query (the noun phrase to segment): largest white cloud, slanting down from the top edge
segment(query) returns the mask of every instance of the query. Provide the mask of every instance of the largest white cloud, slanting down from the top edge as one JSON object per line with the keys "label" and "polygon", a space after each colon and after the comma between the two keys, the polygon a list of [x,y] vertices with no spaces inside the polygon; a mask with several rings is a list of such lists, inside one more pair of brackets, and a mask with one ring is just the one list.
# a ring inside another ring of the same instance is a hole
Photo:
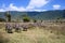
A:
{"label": "largest white cloud, slanting down from the top edge", "polygon": [[49,3],[50,0],[30,0],[27,9],[41,8]]}

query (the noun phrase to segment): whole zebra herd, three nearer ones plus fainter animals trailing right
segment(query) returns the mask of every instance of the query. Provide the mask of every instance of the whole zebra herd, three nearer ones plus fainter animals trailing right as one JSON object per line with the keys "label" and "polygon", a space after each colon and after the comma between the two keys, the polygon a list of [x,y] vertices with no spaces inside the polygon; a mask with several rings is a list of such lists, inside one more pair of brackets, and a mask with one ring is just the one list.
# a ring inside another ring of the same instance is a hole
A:
{"label": "whole zebra herd, three nearer ones plus fainter animals trailing right", "polygon": [[31,27],[43,27],[44,25],[42,23],[30,23],[30,24],[5,24],[5,31],[8,33],[13,33],[13,29],[16,31],[16,32],[21,32],[22,30],[23,31],[27,31],[29,28]]}

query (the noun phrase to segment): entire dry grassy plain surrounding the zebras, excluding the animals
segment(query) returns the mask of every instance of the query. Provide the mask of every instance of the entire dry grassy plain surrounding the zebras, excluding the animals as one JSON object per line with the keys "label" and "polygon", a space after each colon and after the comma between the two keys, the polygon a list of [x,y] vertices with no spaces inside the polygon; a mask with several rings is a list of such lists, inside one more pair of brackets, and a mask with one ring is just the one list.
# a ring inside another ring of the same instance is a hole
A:
{"label": "entire dry grassy plain surrounding the zebras, excluding the animals", "polygon": [[42,23],[36,27],[27,24],[30,26],[27,31],[13,29],[13,33],[8,33],[4,25],[0,23],[0,43],[65,43],[65,24]]}

